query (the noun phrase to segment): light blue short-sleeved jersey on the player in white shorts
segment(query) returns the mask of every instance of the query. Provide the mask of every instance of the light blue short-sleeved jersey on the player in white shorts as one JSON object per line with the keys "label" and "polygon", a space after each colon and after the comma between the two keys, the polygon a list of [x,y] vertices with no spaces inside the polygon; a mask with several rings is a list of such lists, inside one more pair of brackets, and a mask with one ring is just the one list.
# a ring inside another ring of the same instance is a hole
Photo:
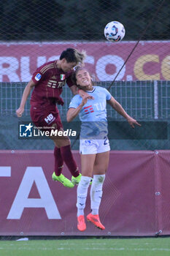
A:
{"label": "light blue short-sleeved jersey on the player in white shorts", "polygon": [[[79,117],[82,121],[80,137],[93,139],[98,136],[107,135],[107,100],[112,95],[107,89],[100,86],[93,86],[93,91],[87,91],[94,99],[88,102],[80,110]],[[75,95],[70,102],[69,108],[77,108],[82,102],[80,95]]]}

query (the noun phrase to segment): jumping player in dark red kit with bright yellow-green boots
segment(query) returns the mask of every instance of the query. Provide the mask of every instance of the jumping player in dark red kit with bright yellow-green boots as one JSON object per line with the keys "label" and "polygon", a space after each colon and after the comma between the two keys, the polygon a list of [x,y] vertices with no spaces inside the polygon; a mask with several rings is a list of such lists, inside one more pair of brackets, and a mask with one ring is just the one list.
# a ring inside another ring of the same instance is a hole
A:
{"label": "jumping player in dark red kit with bright yellow-green boots", "polygon": [[[22,116],[28,95],[34,88],[31,94],[30,113],[36,127],[49,127],[50,130],[53,127],[53,129],[63,130],[60,114],[56,107],[56,104],[63,105],[63,99],[60,97],[63,86],[67,84],[73,94],[80,94],[82,98],[91,98],[85,91],[78,91],[71,79],[73,68],[77,64],[83,63],[84,59],[83,51],[67,48],[61,53],[59,60],[47,62],[37,68],[23,91],[20,108],[16,110],[17,116]],[[52,178],[54,181],[60,181],[65,187],[74,187],[74,184],[80,182],[81,174],[72,156],[70,140],[66,136],[58,137],[58,135],[50,138],[55,143],[55,168]],[[72,181],[62,174],[63,162],[72,173]]]}

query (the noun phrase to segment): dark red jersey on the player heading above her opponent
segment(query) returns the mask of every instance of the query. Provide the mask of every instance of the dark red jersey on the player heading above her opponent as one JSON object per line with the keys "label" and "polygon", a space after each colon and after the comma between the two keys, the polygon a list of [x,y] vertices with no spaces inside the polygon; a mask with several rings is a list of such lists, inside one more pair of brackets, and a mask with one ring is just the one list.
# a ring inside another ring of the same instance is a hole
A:
{"label": "dark red jersey on the player heading above her opponent", "polygon": [[73,71],[63,72],[57,67],[57,61],[49,61],[36,69],[32,80],[36,84],[31,94],[31,105],[63,105],[60,95],[63,86],[73,86],[71,79]]}

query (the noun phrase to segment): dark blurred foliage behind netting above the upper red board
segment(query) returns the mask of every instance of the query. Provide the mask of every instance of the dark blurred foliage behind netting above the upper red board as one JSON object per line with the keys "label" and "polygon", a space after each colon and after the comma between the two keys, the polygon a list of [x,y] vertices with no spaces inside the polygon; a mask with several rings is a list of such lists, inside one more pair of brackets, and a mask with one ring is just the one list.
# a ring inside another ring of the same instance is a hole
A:
{"label": "dark blurred foliage behind netting above the upper red board", "polygon": [[169,39],[169,0],[1,0],[0,40],[102,40],[108,20],[121,20],[126,40]]}

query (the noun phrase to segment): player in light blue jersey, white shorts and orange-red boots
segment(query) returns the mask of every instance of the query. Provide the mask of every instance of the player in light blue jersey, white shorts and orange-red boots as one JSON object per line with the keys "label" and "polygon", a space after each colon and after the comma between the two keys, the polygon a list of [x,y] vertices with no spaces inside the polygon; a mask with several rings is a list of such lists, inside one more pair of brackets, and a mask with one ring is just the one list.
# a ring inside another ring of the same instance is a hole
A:
{"label": "player in light blue jersey, white shorts and orange-red boots", "polygon": [[80,132],[80,154],[82,177],[77,187],[77,228],[86,229],[84,209],[91,177],[93,183],[90,189],[91,213],[87,219],[96,227],[104,230],[101,224],[98,209],[101,203],[102,187],[105,173],[109,165],[109,140],[107,139],[107,102],[117,113],[127,119],[131,127],[141,126],[134,118],[128,116],[123,107],[114,97],[100,86],[93,86],[90,74],[84,67],[77,67],[74,73],[74,82],[88,92],[94,99],[82,99],[75,95],[70,102],[67,112],[67,121],[72,121],[79,115],[82,121]]}

